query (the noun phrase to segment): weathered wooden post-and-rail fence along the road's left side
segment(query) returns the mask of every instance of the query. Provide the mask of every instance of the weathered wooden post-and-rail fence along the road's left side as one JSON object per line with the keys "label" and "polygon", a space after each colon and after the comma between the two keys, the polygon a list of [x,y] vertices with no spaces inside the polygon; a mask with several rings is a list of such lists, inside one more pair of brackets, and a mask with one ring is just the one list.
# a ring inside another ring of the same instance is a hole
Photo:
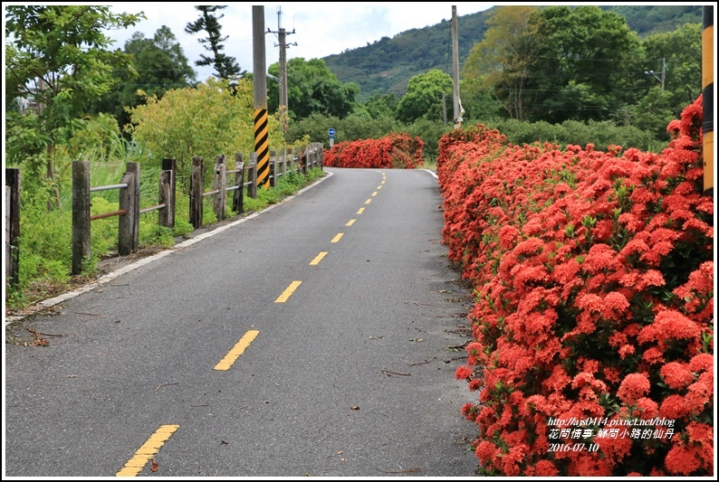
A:
{"label": "weathered wooden post-and-rail fence along the road's left side", "polygon": [[[308,169],[322,167],[321,142],[309,146],[282,149],[277,156],[270,152],[270,185],[275,187],[282,175],[294,171],[307,174]],[[244,192],[251,198],[257,197],[257,156],[250,154],[245,165],[243,155],[235,154],[235,168],[227,169],[225,156],[216,156],[213,190],[203,192],[203,159],[194,157],[190,173],[189,222],[197,229],[202,226],[203,201],[213,196],[213,209],[217,220],[226,217],[227,192],[233,193],[233,211],[244,213]],[[232,185],[227,185],[227,175],[235,174]],[[158,212],[158,224],[175,226],[175,198],[177,167],[175,159],[163,159],[159,173],[158,203],[139,208],[139,164],[127,163],[126,172],[119,184],[91,187],[90,163],[72,163],[72,274],[80,274],[83,265],[91,258],[91,221],[118,217],[118,254],[127,255],[139,248],[139,215]],[[246,179],[246,180],[245,180]],[[91,193],[119,190],[119,209],[109,213],[90,214]],[[5,168],[5,279],[11,286],[18,280],[18,238],[20,236],[20,170]]]}

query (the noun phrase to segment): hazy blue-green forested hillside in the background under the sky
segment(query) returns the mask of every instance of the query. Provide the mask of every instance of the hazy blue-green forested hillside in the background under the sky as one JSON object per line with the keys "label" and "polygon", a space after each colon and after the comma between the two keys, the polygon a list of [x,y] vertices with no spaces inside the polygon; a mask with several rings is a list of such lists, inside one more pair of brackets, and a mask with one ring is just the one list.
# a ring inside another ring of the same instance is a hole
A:
{"label": "hazy blue-green forested hillside in the background under the sky", "polygon": [[[457,16],[460,68],[475,43],[484,36],[484,23],[494,8],[484,12]],[[617,5],[602,6],[623,15],[630,29],[644,37],[650,33],[668,32],[681,24],[701,24],[701,5]],[[407,30],[393,38],[382,37],[365,47],[324,57],[327,67],[342,82],[357,82],[361,87],[359,101],[373,95],[407,90],[407,82],[419,73],[439,69],[452,73],[451,10],[435,25]]]}

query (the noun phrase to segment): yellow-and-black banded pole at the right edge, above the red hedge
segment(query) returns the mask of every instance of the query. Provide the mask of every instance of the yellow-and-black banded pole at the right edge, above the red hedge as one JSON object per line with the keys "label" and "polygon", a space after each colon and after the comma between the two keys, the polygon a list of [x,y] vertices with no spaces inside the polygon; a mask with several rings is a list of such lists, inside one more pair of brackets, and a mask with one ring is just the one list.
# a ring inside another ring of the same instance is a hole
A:
{"label": "yellow-and-black banded pole at the right edge, above the red hedge", "polygon": [[714,5],[702,7],[704,194],[714,196]]}

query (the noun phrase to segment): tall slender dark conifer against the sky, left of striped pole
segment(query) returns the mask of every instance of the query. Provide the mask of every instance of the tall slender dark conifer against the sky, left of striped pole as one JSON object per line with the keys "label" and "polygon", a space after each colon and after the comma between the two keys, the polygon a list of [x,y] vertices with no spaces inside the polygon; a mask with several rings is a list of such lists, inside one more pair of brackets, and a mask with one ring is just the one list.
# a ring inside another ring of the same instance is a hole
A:
{"label": "tall slender dark conifer against the sky, left of striped pole", "polygon": [[216,12],[225,8],[227,8],[227,5],[195,5],[195,9],[200,12],[200,17],[195,22],[188,22],[185,26],[185,32],[187,33],[207,33],[206,38],[199,39],[199,43],[205,45],[205,49],[212,52],[212,56],[207,56],[204,53],[200,54],[200,60],[195,61],[195,65],[198,67],[212,65],[217,72],[217,77],[220,79],[230,79],[246,73],[241,71],[235,57],[230,57],[222,52],[225,50],[225,45],[222,43],[227,40],[228,36],[223,37],[220,33],[222,27],[219,20],[225,14],[216,15]]}

